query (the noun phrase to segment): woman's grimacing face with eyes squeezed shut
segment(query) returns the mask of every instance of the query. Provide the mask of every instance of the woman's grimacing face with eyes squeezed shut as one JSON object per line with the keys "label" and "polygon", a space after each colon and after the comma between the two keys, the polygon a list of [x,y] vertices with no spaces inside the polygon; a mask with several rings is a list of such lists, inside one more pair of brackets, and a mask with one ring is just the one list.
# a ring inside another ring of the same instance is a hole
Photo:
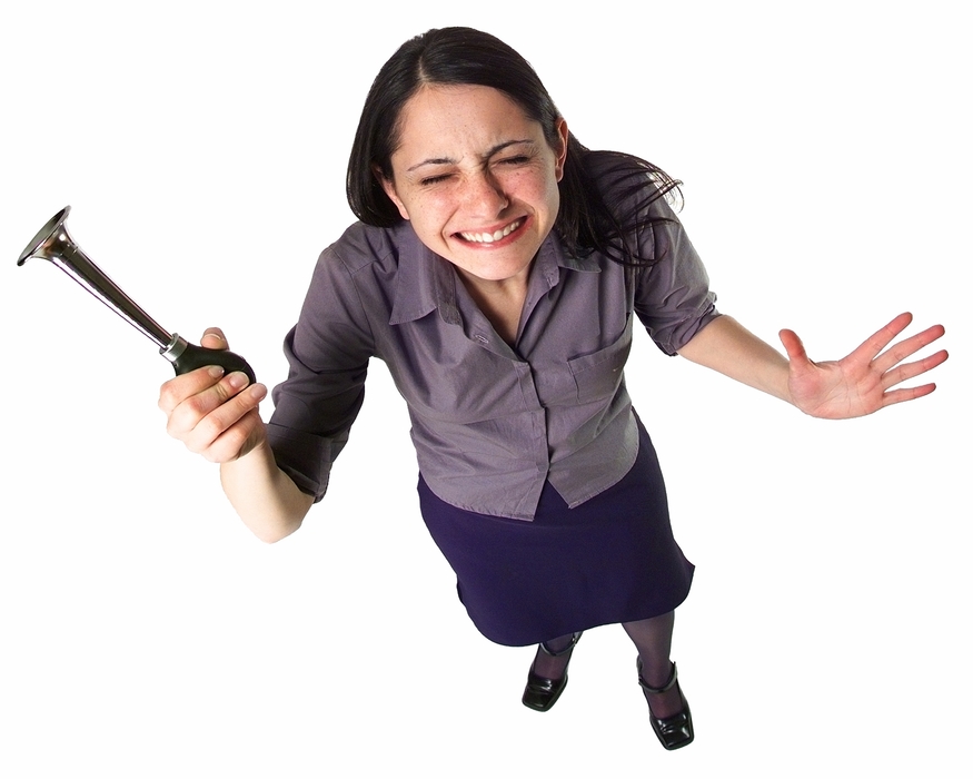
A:
{"label": "woman's grimacing face with eyes squeezed shut", "polygon": [[477,279],[526,277],[554,227],[567,126],[539,122],[490,87],[427,85],[403,108],[385,191],[419,239]]}

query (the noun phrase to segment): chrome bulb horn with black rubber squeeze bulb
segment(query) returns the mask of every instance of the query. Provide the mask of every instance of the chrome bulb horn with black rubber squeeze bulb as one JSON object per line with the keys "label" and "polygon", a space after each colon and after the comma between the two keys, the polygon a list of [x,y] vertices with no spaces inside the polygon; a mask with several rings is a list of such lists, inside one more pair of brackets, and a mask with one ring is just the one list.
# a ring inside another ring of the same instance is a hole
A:
{"label": "chrome bulb horn with black rubber squeeze bulb", "polygon": [[153,341],[159,347],[159,354],[172,363],[177,375],[207,365],[219,365],[227,373],[242,371],[251,384],[257,381],[254,369],[238,354],[196,346],[177,333],[170,335],[162,329],[75,243],[64,226],[70,213],[71,207],[66,206],[51,217],[20,254],[17,264],[23,265],[31,257],[53,263],[122,319]]}

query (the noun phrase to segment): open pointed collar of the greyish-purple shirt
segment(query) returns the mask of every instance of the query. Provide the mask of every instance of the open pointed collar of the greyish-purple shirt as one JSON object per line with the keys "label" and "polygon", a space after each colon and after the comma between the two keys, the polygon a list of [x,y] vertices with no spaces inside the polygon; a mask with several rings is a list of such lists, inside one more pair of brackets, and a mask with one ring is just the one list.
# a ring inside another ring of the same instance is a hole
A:
{"label": "open pointed collar of the greyish-purple shirt", "polygon": [[[461,323],[456,304],[456,273],[449,263],[423,244],[411,225],[404,221],[389,229],[398,248],[398,278],[395,287],[390,325],[420,319],[435,309],[448,324]],[[553,233],[537,253],[535,274],[553,288],[560,278],[560,268],[580,273],[600,273],[594,255],[570,257]]]}

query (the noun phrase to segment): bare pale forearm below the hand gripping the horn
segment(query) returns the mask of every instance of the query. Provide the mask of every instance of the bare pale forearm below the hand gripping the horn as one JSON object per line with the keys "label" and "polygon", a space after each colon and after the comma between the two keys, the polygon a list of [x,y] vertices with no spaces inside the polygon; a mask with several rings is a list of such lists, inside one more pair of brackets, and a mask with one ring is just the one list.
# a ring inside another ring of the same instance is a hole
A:
{"label": "bare pale forearm below the hand gripping the horn", "polygon": [[224,492],[261,541],[274,543],[300,527],[314,497],[297,489],[274,460],[266,441],[247,455],[220,465]]}

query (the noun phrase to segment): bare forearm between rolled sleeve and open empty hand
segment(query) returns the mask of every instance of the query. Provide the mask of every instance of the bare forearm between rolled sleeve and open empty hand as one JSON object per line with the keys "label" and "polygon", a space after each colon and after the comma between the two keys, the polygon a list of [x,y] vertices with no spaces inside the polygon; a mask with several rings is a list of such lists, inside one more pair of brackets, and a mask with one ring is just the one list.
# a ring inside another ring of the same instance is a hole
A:
{"label": "bare forearm between rolled sleeve and open empty hand", "polygon": [[733,317],[711,322],[679,349],[679,355],[792,403],[787,358]]}

